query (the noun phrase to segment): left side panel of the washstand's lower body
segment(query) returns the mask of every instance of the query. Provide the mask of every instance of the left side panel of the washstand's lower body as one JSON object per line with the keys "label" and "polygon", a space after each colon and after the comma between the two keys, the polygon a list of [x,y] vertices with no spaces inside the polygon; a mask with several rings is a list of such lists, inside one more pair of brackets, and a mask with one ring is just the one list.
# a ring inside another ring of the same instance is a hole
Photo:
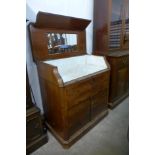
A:
{"label": "left side panel of the washstand's lower body", "polygon": [[57,87],[43,78],[40,78],[40,83],[42,85],[46,121],[56,133],[64,138],[65,109],[62,105],[65,104],[65,101],[61,102],[63,88]]}

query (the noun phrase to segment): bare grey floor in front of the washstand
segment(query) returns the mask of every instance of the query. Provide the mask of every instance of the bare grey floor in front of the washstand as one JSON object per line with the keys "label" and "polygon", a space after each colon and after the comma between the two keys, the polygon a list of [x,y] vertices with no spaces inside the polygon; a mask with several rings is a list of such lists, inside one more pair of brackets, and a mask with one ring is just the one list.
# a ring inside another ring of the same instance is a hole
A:
{"label": "bare grey floor in front of the washstand", "polygon": [[63,149],[48,132],[49,141],[31,155],[128,155],[129,99],[126,98],[77,141]]}

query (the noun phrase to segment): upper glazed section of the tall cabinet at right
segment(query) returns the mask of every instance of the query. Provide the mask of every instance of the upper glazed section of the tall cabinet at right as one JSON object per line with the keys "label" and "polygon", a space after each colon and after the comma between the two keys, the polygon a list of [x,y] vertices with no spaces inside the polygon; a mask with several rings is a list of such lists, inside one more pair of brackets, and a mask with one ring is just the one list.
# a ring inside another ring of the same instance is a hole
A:
{"label": "upper glazed section of the tall cabinet at right", "polygon": [[129,1],[94,0],[93,50],[96,54],[129,48]]}

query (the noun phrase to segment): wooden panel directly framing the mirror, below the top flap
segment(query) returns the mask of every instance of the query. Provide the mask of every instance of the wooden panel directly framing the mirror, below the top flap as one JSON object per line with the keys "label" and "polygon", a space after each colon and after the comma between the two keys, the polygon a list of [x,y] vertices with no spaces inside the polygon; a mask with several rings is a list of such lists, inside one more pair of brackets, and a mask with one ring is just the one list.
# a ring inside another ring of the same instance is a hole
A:
{"label": "wooden panel directly framing the mirror, below the top flap", "polygon": [[[29,25],[30,29],[30,40],[31,40],[31,48],[34,60],[43,61],[47,59],[58,59],[64,57],[71,57],[86,54],[86,35],[85,30],[55,30],[55,29],[40,29],[35,27],[34,24]],[[56,54],[49,54],[48,53],[48,40],[46,37],[46,33],[48,32],[66,32],[66,33],[75,33],[78,35],[77,38],[77,51],[66,52],[66,53],[56,53]]]}

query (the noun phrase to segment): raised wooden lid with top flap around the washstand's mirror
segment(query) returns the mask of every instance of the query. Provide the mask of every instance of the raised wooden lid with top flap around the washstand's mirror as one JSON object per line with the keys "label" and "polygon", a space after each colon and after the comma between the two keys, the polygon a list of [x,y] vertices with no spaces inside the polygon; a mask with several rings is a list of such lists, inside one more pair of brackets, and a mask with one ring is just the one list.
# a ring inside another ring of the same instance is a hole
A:
{"label": "raised wooden lid with top flap around the washstand's mirror", "polygon": [[[90,20],[39,12],[35,23],[30,23],[30,41],[34,61],[58,59],[86,54],[86,30]],[[48,32],[77,34],[77,51],[48,53]]]}

